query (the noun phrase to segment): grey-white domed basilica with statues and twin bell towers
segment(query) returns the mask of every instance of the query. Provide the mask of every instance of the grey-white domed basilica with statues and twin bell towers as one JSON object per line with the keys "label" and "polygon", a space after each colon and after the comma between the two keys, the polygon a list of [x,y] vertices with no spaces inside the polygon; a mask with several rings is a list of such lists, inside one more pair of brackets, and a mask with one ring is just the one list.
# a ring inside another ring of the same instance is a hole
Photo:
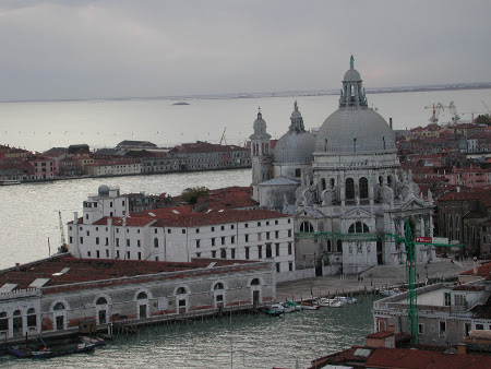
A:
{"label": "grey-white domed basilica with statues and twin bell towers", "polygon": [[[339,107],[319,131],[306,131],[297,102],[274,148],[261,111],[253,129],[253,197],[261,207],[294,215],[298,267],[350,274],[402,264],[408,225],[414,236],[432,237],[431,192],[400,168],[395,133],[369,108],[352,57]],[[433,258],[431,245],[416,245],[417,262]]]}

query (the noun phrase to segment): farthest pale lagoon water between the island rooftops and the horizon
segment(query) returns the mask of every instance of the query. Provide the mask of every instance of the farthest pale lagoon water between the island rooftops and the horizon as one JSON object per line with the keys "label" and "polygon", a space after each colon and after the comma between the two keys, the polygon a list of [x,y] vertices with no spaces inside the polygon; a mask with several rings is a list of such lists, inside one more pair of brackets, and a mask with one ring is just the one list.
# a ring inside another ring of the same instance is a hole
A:
{"label": "farthest pale lagoon water between the island rooftops and the horizon", "polygon": [[[367,82],[369,83],[369,82]],[[340,83],[339,83],[340,88]],[[224,129],[228,143],[243,144],[261,106],[268,132],[279,138],[288,130],[294,102],[298,99],[307,128],[320,127],[336,110],[337,95],[229,99],[189,99],[176,106],[169,99],[84,100],[0,104],[0,144],[44,151],[52,146],[86,143],[91,147],[115,146],[122,140],[145,140],[175,145],[195,140],[218,142]],[[368,95],[395,129],[427,124],[433,103],[454,102],[463,119],[488,112],[491,90],[441,91]],[[447,110],[441,122],[450,121]]]}

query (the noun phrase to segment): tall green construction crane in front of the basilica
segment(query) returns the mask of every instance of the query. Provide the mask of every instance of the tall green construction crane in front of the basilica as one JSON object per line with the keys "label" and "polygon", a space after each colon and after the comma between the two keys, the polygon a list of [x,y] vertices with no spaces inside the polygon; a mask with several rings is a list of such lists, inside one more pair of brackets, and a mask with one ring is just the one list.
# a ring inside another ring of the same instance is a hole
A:
{"label": "tall green construction crane in front of the basilica", "polygon": [[396,243],[406,245],[406,288],[407,288],[407,324],[408,332],[412,335],[412,343],[419,342],[418,335],[418,279],[416,273],[416,245],[430,245],[430,246],[447,246],[447,247],[462,247],[463,245],[443,245],[431,242],[415,241],[412,236],[409,221],[405,223],[405,236],[392,235],[392,234],[344,234],[334,231],[312,231],[312,233],[297,233],[296,238],[314,238],[314,239],[331,239],[331,240],[345,240],[345,241],[392,241]]}

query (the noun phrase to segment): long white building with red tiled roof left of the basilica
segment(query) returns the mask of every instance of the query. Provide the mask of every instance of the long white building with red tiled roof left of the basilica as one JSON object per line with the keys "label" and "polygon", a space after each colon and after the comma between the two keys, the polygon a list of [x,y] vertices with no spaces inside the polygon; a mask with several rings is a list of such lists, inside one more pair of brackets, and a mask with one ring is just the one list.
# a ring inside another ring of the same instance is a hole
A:
{"label": "long white building with red tiled roof left of the basilica", "polygon": [[85,259],[189,262],[194,258],[270,260],[278,281],[292,278],[292,216],[271,210],[189,206],[129,213],[119,189],[100,186],[68,225],[69,251]]}

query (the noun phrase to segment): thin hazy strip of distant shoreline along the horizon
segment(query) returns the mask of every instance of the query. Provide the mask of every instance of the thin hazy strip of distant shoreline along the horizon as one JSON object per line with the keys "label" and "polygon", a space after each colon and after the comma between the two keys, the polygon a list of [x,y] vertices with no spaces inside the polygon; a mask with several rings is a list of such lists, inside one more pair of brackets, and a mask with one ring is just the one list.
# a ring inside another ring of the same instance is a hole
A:
{"label": "thin hazy strip of distant shoreline along the horizon", "polygon": [[[490,90],[491,82],[428,85],[428,86],[402,86],[402,87],[380,87],[367,88],[367,95],[371,94],[398,94],[414,92],[435,92],[435,91],[462,91],[462,90]],[[130,102],[130,100],[171,100],[171,105],[189,105],[185,100],[195,99],[236,99],[236,98],[262,98],[262,97],[291,97],[291,96],[325,96],[338,95],[339,90],[325,91],[286,91],[265,93],[238,93],[238,94],[216,94],[216,95],[189,95],[189,96],[154,96],[154,97],[100,97],[100,98],[67,98],[67,99],[26,99],[26,100],[1,100],[0,104],[12,103],[76,103],[76,102]]]}

